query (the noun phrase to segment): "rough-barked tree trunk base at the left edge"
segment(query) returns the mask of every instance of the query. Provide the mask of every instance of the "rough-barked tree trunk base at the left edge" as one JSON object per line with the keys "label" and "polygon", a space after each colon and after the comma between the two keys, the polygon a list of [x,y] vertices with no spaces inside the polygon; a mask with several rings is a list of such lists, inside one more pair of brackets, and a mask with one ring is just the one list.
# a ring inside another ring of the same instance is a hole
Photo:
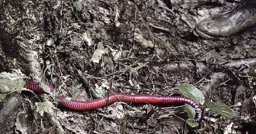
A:
{"label": "rough-barked tree trunk base at the left edge", "polygon": [[[21,68],[26,75],[40,76],[42,44],[58,35],[57,13],[60,9],[58,0],[0,0],[1,71]],[[15,118],[22,110],[21,106],[20,99],[10,97],[0,107],[1,133],[14,132]]]}

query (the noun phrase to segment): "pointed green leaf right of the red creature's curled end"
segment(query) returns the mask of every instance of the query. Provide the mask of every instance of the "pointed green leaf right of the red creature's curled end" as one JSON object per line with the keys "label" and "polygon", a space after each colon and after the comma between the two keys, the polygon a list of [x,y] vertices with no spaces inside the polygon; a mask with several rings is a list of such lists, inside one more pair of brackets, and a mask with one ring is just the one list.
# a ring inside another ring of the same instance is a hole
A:
{"label": "pointed green leaf right of the red creature's curled end", "polygon": [[211,108],[215,112],[218,112],[225,118],[231,119],[236,117],[236,114],[224,103],[222,102],[207,102],[207,108]]}

